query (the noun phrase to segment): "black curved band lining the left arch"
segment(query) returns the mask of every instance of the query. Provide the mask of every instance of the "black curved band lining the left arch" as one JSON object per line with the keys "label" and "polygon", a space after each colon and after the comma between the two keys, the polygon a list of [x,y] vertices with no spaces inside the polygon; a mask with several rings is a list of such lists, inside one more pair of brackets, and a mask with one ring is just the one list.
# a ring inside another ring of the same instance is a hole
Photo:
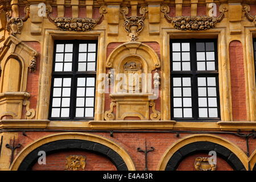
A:
{"label": "black curved band lining the left arch", "polygon": [[32,166],[38,161],[38,152],[45,151],[46,154],[53,154],[55,152],[63,151],[63,150],[81,150],[81,151],[89,151],[95,154],[100,154],[108,158],[118,171],[127,171],[128,168],[121,158],[120,155],[117,154],[111,148],[104,146],[103,144],[92,142],[88,140],[77,140],[77,139],[68,139],[68,140],[57,140],[54,142],[49,142],[43,144],[42,146],[35,148],[30,154],[24,158],[22,163],[20,164],[18,171],[28,171],[31,170]]}

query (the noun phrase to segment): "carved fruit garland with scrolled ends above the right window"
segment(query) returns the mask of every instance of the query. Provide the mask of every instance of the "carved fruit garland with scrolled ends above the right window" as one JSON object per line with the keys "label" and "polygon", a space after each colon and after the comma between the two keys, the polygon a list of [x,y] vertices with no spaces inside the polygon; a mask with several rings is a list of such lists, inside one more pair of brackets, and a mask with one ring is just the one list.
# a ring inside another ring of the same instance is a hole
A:
{"label": "carved fruit garland with scrolled ends above the right window", "polygon": [[224,18],[224,13],[227,11],[224,5],[221,5],[219,8],[220,15],[215,16],[176,16],[171,17],[168,13],[170,12],[170,7],[167,5],[161,6],[161,11],[164,13],[164,16],[171,22],[175,28],[178,30],[208,30],[214,28],[217,22],[221,22]]}

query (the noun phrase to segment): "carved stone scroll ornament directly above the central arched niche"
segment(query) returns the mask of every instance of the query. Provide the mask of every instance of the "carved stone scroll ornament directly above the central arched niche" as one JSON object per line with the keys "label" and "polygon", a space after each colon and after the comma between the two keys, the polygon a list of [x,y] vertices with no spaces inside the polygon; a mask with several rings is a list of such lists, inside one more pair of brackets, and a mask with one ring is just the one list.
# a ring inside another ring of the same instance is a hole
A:
{"label": "carved stone scroll ornament directly above the central arched niche", "polygon": [[147,7],[141,7],[141,9],[139,9],[139,13],[142,16],[127,17],[126,15],[128,14],[128,7],[126,6],[122,7],[121,13],[123,15],[123,18],[125,19],[125,23],[123,24],[123,27],[125,28],[125,31],[130,36],[130,41],[135,41],[138,39],[139,33],[144,28],[144,19],[147,11],[148,11]]}

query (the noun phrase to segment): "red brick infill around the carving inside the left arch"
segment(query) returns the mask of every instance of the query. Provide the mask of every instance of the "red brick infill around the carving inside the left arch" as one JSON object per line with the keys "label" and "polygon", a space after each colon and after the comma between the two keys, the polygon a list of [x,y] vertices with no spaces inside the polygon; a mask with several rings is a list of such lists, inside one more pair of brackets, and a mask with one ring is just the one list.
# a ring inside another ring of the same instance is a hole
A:
{"label": "red brick infill around the carving inside the left arch", "polygon": [[82,155],[86,157],[85,171],[117,171],[109,159],[104,156],[93,154],[91,152],[85,151],[64,151],[57,152],[55,154],[50,154],[46,156],[46,164],[39,165],[36,163],[32,170],[35,171],[63,171],[65,170],[65,164],[67,162],[66,158],[69,155]]}

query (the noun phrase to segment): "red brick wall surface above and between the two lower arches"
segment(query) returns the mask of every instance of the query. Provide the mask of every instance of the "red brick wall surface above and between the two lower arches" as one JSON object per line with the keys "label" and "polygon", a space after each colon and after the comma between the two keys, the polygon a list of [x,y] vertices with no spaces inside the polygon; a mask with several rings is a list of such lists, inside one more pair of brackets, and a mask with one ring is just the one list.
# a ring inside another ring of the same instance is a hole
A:
{"label": "red brick wall surface above and between the two lower arches", "polygon": [[[18,138],[16,138],[15,144],[22,144],[22,147],[17,148],[15,150],[15,154],[18,154],[24,147],[28,144],[34,142],[35,140],[46,137],[47,135],[53,134],[54,132],[32,132],[27,131],[27,137],[22,135],[22,132],[19,132]],[[56,132],[57,133],[57,132]],[[187,137],[191,134],[180,134],[180,137],[177,138],[175,133],[115,133],[114,137],[110,137],[109,133],[91,133],[95,135],[99,135],[101,137],[108,138],[113,142],[117,143],[119,146],[123,147],[127,153],[131,156],[131,159],[134,162],[135,168],[137,170],[144,170],[144,154],[142,152],[137,152],[137,148],[141,147],[142,150],[145,148],[145,139],[147,140],[147,148],[154,147],[155,150],[152,152],[148,152],[148,169],[156,170],[160,159],[164,155],[164,152],[184,137]],[[237,147],[241,148],[243,152],[246,154],[246,142],[244,138],[237,137],[235,135],[228,134],[218,134],[216,136],[225,138],[229,142],[233,143]],[[11,141],[10,141],[11,142]],[[256,150],[256,139],[249,139],[250,144],[250,155]],[[201,155],[201,154],[200,154]],[[192,158],[192,157],[191,157]],[[193,165],[195,158],[191,159]],[[217,160],[217,164],[221,159]],[[223,164],[224,165],[224,164]],[[221,169],[221,168],[219,168]],[[227,168],[229,169],[229,168]],[[193,168],[191,168],[193,170]]]}

